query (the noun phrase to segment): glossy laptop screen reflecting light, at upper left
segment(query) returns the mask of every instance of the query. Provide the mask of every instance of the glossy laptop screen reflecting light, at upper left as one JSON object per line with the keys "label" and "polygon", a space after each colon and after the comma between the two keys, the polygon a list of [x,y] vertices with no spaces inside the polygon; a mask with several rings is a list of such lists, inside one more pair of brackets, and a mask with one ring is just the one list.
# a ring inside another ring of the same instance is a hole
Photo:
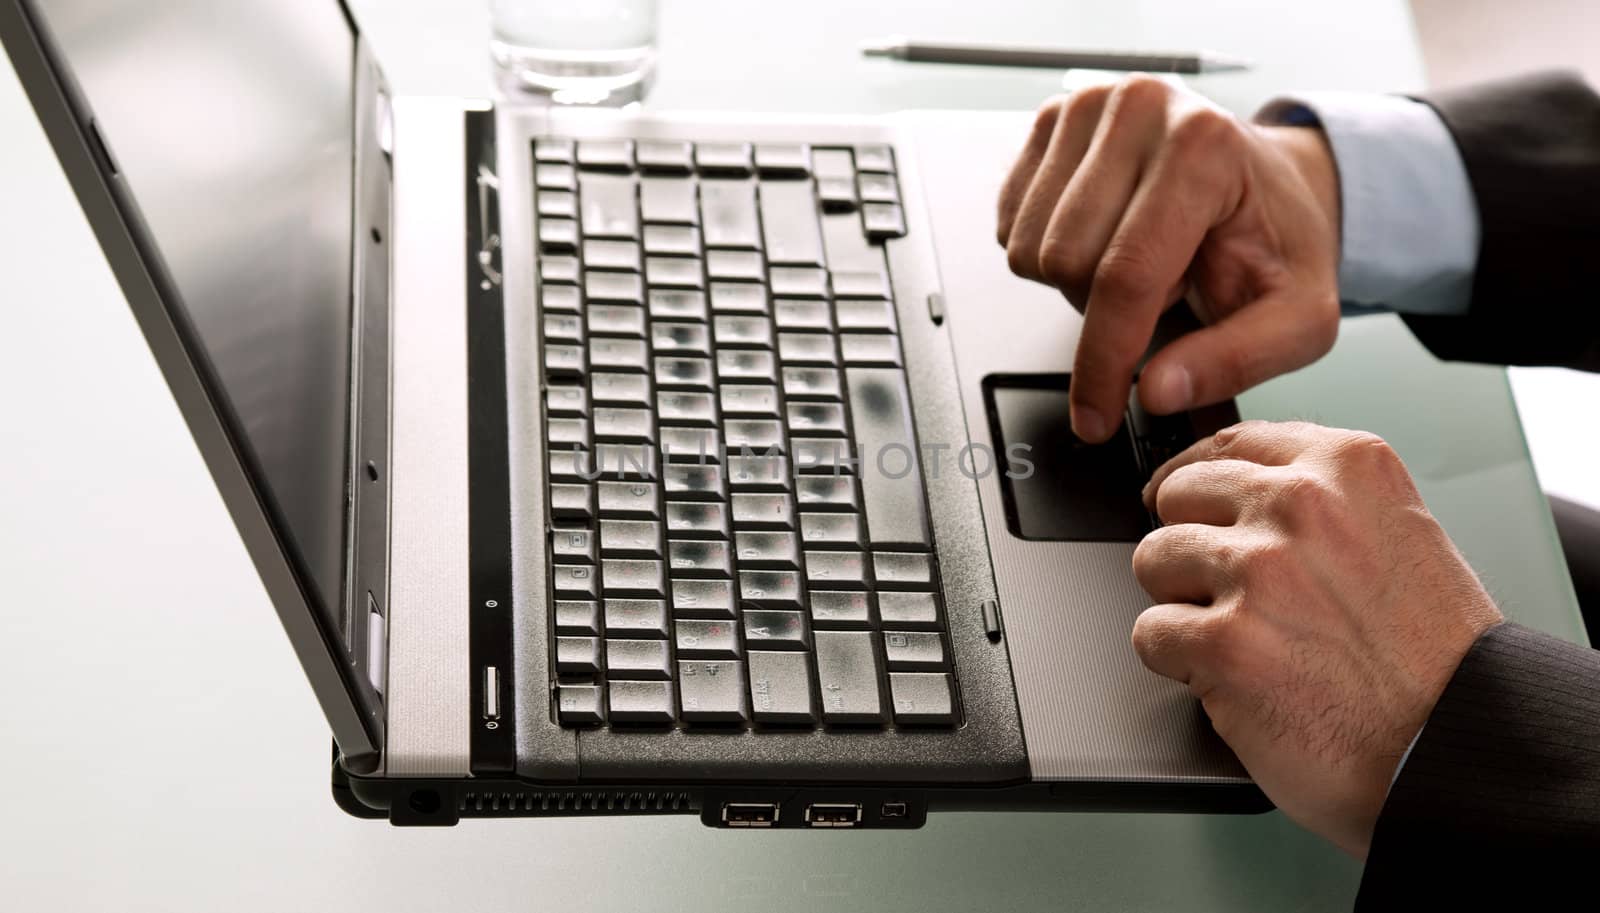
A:
{"label": "glossy laptop screen reflecting light, at upper left", "polygon": [[[333,0],[35,0],[280,536],[344,568],[355,42]],[[331,617],[330,630],[338,630]]]}

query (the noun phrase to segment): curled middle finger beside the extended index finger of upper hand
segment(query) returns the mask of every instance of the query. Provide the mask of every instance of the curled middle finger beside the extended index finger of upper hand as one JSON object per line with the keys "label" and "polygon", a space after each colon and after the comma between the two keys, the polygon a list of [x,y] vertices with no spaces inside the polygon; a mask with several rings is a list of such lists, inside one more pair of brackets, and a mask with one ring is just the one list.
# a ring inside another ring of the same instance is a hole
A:
{"label": "curled middle finger beside the extended index finger of upper hand", "polygon": [[1106,101],[1099,128],[1067,181],[1038,245],[1038,272],[1082,310],[1094,269],[1122,224],[1146,165],[1160,147],[1171,90],[1125,82]]}

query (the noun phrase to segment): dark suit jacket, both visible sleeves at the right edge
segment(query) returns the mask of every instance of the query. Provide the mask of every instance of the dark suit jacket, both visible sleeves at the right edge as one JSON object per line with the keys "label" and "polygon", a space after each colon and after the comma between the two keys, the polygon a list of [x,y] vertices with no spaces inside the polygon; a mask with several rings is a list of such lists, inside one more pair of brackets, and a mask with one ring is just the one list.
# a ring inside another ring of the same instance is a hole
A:
{"label": "dark suit jacket, both visible sleeves at the right edge", "polygon": [[[1411,331],[1440,358],[1600,371],[1600,96],[1541,74],[1421,101],[1461,150],[1482,248],[1467,313],[1406,317]],[[1402,764],[1357,907],[1557,897],[1600,908],[1600,652],[1506,624]]]}

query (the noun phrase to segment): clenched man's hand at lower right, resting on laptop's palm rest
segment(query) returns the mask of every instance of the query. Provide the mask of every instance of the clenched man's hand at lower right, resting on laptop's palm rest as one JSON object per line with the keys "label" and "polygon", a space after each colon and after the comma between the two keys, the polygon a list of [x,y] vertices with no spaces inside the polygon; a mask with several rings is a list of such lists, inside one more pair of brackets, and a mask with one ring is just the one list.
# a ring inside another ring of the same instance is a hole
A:
{"label": "clenched man's hand at lower right, resting on laptop's palm rest", "polygon": [[1411,739],[1502,620],[1382,440],[1224,429],[1157,470],[1133,628],[1290,819],[1357,857]]}

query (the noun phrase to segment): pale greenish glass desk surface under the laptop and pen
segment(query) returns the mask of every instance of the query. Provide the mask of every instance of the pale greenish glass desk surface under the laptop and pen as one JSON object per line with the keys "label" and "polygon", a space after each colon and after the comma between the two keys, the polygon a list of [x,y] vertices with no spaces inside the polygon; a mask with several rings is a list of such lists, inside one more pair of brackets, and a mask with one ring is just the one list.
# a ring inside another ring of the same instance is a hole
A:
{"label": "pale greenish glass desk surface under the laptop and pen", "polygon": [[[354,6],[402,91],[486,86],[475,6]],[[1059,85],[854,54],[858,38],[907,30],[1243,54],[1259,61],[1253,74],[1194,83],[1242,112],[1280,88],[1421,83],[1400,0],[1226,13],[1182,0],[666,6],[659,107],[1027,109]],[[6,67],[0,136],[0,782],[11,791],[0,891],[11,905],[1349,908],[1358,867],[1278,814],[949,814],[915,833],[710,831],[693,819],[395,830],[344,817],[328,799],[310,691]],[[1437,366],[1398,323],[1363,318],[1330,358],[1242,408],[1389,437],[1507,614],[1579,636],[1504,373]]]}

